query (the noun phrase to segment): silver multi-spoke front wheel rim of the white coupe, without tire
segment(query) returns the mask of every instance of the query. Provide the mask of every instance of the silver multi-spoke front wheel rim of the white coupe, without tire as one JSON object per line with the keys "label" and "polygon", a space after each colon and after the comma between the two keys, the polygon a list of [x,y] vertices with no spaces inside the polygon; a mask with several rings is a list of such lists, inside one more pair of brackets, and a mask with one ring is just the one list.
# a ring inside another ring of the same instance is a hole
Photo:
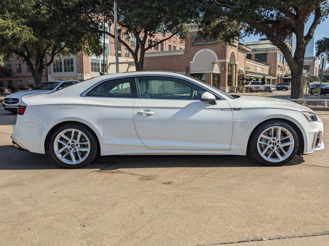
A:
{"label": "silver multi-spoke front wheel rim of the white coupe, without tire", "polygon": [[279,126],[265,129],[257,141],[259,154],[270,162],[287,159],[293,153],[294,147],[295,141],[291,132]]}

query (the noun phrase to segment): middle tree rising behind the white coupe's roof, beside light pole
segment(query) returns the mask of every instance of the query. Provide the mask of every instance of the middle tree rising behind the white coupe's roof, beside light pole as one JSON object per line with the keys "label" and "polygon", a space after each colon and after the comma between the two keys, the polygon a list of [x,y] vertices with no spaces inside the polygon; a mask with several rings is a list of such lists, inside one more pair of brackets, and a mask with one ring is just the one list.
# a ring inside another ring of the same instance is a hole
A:
{"label": "middle tree rising behind the white coupe's roof, beside light pole", "polygon": [[[184,39],[188,30],[184,23],[195,17],[191,1],[170,0],[119,0],[117,2],[118,42],[132,54],[137,71],[143,70],[145,51],[165,42],[174,35]],[[114,34],[104,31],[102,22],[114,22],[113,0],[82,0],[82,15],[94,25],[95,31],[114,38]],[[166,33],[169,33],[170,35]],[[131,39],[125,36],[134,35],[135,49],[130,46]],[[150,42],[149,39],[153,41]]]}

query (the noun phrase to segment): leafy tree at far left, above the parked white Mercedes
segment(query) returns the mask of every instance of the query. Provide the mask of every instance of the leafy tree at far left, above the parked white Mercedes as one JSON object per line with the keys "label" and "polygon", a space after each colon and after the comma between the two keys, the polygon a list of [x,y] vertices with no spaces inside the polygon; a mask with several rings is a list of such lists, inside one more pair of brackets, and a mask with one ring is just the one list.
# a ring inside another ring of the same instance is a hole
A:
{"label": "leafy tree at far left, above the parked white Mercedes", "polygon": [[101,53],[100,35],[81,22],[76,0],[4,0],[0,9],[0,55],[15,55],[36,84],[56,56]]}

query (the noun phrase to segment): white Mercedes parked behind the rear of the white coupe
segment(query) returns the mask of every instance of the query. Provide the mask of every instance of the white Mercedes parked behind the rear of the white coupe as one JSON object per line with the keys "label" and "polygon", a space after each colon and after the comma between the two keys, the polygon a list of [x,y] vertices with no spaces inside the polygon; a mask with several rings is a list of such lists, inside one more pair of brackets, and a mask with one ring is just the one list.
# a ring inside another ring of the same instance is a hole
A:
{"label": "white Mercedes parked behind the rear of the white coupe", "polygon": [[41,83],[31,90],[19,91],[5,97],[3,108],[11,113],[16,113],[22,102],[22,96],[45,94],[51,91],[60,90],[64,87],[78,83],[78,80],[55,80]]}

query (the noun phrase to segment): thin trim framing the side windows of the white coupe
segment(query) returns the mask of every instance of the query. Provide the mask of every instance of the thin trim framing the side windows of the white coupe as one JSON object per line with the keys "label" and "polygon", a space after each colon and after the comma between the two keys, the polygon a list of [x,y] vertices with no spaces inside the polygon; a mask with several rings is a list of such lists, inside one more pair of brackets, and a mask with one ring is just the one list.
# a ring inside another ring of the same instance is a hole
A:
{"label": "thin trim framing the side windows of the white coupe", "polygon": [[[177,79],[182,79],[182,80],[185,80],[189,83],[192,83],[193,85],[195,86],[198,86],[200,88],[203,88],[204,90],[210,92],[211,94],[215,94],[218,99],[216,100],[226,100],[225,98],[223,98],[222,96],[218,95],[218,93],[215,93],[211,90],[209,90],[208,88],[202,86],[202,85],[199,85],[197,83],[195,83],[194,81],[192,80],[189,80],[187,78],[182,78],[182,77],[179,77],[179,76],[173,76],[173,75],[165,75],[165,74],[141,74],[141,75],[128,75],[128,76],[121,76],[121,77],[115,77],[115,78],[107,78],[107,79],[103,79],[101,81],[98,81],[95,85],[89,87],[87,90],[85,90],[84,92],[82,92],[80,94],[81,97],[101,97],[101,98],[137,98],[137,99],[152,99],[152,100],[187,100],[187,99],[165,99],[165,98],[140,98],[138,97],[138,91],[137,91],[137,87],[136,87],[136,95],[137,97],[111,97],[111,96],[87,96],[86,94],[93,90],[96,86],[104,83],[105,81],[109,81],[109,80],[114,80],[114,79],[121,79],[121,78],[137,78],[137,77],[171,77],[171,78],[177,78]],[[199,101],[198,99],[191,99],[191,100],[196,100],[196,101]]]}

